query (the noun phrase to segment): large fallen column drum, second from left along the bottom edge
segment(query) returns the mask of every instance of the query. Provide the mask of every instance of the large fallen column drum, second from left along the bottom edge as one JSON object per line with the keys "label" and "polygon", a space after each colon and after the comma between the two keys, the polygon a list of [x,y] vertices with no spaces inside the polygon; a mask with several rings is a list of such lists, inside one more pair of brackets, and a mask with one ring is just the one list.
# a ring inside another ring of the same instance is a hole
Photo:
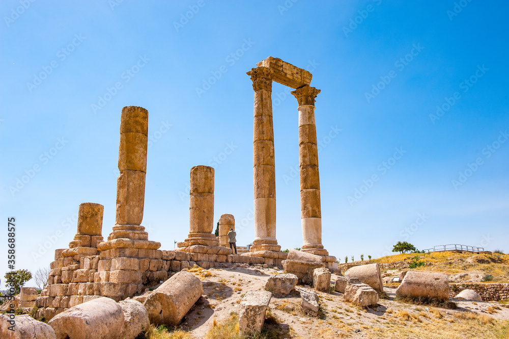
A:
{"label": "large fallen column drum, second from left along the bottom edge", "polygon": [[48,322],[56,339],[117,339],[124,327],[122,307],[100,297],[73,306]]}

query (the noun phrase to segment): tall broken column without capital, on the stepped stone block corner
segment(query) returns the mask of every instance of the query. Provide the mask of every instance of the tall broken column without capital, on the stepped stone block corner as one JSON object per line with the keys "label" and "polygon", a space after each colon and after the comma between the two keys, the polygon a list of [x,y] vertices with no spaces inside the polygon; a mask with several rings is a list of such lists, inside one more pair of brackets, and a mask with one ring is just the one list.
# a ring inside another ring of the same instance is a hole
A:
{"label": "tall broken column without capital, on the stepped stone block corner", "polygon": [[148,120],[149,112],[142,107],[122,109],[116,225],[108,240],[148,240],[145,227],[140,226],[145,202]]}

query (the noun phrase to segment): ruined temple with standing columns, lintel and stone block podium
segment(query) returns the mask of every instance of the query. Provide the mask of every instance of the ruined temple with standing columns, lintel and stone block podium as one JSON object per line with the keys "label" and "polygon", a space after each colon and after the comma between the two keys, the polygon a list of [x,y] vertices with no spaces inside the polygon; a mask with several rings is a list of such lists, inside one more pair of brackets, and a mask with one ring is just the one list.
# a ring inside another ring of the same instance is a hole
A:
{"label": "ruined temple with standing columns, lintel and stone block podium", "polygon": [[[139,296],[151,286],[166,281],[172,272],[193,265],[204,269],[225,267],[231,263],[283,265],[288,253],[280,251],[276,240],[272,81],[295,89],[292,94],[298,102],[302,251],[313,258],[312,263],[308,262],[309,259],[289,258],[288,266],[300,280],[307,274],[310,283],[313,283],[312,269],[337,269],[336,258],[329,256],[322,245],[315,124],[315,98],[320,90],[309,86],[311,73],[272,57],[258,63],[247,74],[254,89],[255,239],[249,252],[241,250],[239,255],[232,254],[227,234],[230,228],[235,229],[233,215],[223,214],[219,220],[219,236],[215,237],[212,233],[214,169],[208,166],[195,166],[190,170],[187,239],[179,242],[175,251],[160,250],[159,242],[149,240],[142,226],[148,111],[141,107],[124,107],[120,123],[120,175],[117,179],[115,226],[104,241],[103,206],[97,203],[79,205],[76,236],[68,249],[55,250],[48,285],[36,300],[39,307],[37,319],[41,316],[52,319],[69,307],[100,297],[120,301]],[[156,298],[157,294],[153,295]],[[140,302],[148,303],[152,300],[150,298],[144,297]],[[156,316],[149,312],[149,317]]]}

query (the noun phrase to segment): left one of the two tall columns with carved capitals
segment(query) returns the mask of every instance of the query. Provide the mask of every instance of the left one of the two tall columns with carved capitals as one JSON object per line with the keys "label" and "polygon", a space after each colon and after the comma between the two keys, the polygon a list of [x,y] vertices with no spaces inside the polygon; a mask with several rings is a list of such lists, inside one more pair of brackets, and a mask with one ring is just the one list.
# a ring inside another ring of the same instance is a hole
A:
{"label": "left one of the two tall columns with carved capitals", "polygon": [[254,240],[250,251],[279,251],[276,240],[276,176],[272,125],[272,75],[267,67],[247,72],[254,89]]}

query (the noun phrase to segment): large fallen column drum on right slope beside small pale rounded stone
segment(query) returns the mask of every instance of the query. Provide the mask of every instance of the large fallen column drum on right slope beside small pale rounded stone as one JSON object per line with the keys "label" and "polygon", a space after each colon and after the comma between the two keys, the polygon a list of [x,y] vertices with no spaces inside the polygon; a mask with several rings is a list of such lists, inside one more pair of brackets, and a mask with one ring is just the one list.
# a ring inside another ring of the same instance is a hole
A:
{"label": "large fallen column drum on right slope beside small pale rounded stone", "polygon": [[449,300],[449,280],[445,274],[409,271],[396,296]]}

